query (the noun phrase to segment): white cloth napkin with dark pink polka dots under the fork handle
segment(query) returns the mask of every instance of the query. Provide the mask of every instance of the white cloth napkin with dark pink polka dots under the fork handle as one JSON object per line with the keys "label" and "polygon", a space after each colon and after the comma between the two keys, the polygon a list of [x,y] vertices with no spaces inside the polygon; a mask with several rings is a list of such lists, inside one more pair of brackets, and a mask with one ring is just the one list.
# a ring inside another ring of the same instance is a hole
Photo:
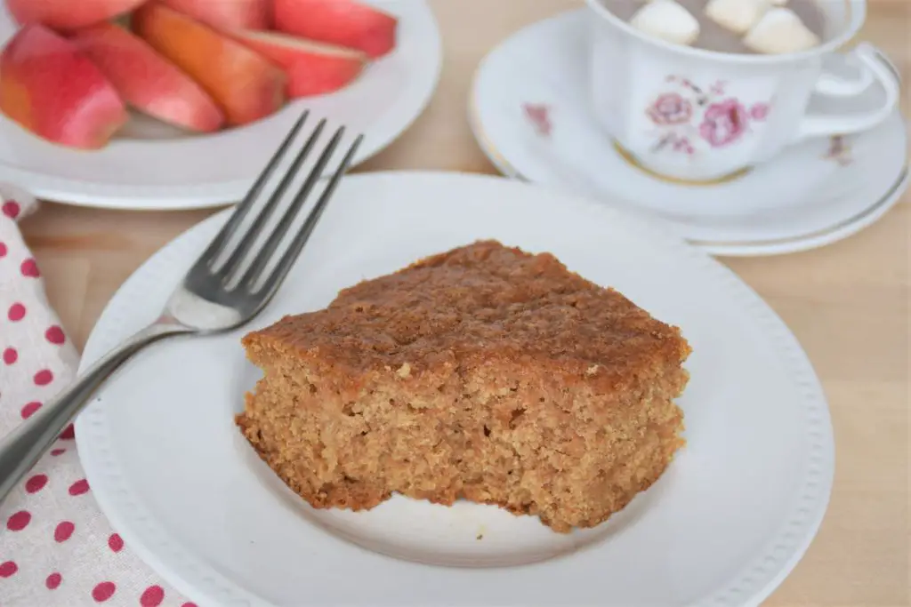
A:
{"label": "white cloth napkin with dark pink polka dots under the fork handle", "polygon": [[[0,435],[41,410],[77,367],[16,228],[34,208],[32,198],[0,185]],[[70,426],[0,504],[0,605],[195,607],[110,528],[74,437]]]}

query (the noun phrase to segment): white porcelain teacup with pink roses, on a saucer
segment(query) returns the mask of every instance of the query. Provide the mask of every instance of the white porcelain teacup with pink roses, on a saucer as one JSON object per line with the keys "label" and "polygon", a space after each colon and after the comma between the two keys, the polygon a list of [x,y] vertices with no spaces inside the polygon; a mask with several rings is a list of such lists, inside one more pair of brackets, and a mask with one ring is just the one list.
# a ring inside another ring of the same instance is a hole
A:
{"label": "white porcelain teacup with pink roses, on a saucer", "polygon": [[[677,46],[634,29],[601,0],[593,19],[589,86],[594,116],[627,157],[664,177],[731,177],[809,137],[879,125],[895,110],[899,82],[874,47],[851,52],[855,79],[824,70],[824,56],[864,24],[865,0],[821,1],[822,46],[790,55],[737,55]],[[811,96],[859,97],[878,83],[874,108],[807,112]]]}

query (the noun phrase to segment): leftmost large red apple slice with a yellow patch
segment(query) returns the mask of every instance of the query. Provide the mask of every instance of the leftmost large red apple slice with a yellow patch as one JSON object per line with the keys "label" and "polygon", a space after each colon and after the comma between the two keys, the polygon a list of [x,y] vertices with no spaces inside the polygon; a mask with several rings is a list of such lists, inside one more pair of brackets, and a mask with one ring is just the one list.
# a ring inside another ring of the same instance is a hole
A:
{"label": "leftmost large red apple slice with a yellow patch", "polygon": [[48,141],[97,149],[127,122],[114,86],[44,25],[26,25],[7,43],[0,75],[0,111]]}

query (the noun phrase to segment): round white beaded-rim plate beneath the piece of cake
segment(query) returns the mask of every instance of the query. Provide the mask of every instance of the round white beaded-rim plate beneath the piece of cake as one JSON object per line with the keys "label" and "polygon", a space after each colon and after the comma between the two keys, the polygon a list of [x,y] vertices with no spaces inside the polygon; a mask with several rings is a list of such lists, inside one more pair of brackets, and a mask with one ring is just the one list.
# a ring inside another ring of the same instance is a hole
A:
{"label": "round white beaded-rim plate beneath the piece of cake", "polygon": [[[83,365],[156,318],[225,218],[192,228],[128,279],[88,340]],[[690,339],[692,379],[681,399],[689,445],[628,509],[568,535],[466,503],[395,497],[369,512],[314,511],[232,423],[258,377],[236,331],[146,350],[77,420],[80,457],[113,525],[200,607],[761,601],[823,518],[832,429],[793,335],[700,250],[640,219],[504,178],[358,175],[343,181],[253,325],[322,308],[362,278],[477,238],[551,251]]]}

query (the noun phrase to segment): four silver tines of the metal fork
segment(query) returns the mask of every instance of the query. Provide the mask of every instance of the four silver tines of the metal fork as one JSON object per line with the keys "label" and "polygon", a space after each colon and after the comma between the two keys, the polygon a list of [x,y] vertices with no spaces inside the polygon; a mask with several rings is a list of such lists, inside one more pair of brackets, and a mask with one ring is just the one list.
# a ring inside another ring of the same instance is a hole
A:
{"label": "four silver tines of the metal fork", "polygon": [[[298,177],[304,161],[310,157],[313,148],[316,147],[317,141],[326,126],[326,120],[323,118],[313,129],[310,137],[307,137],[303,147],[293,158],[291,165],[285,169],[281,181],[272,190],[271,196],[262,203],[261,198],[264,196],[264,190],[267,189],[272,175],[277,167],[281,165],[282,160],[289,155],[293,147],[296,147],[295,140],[300,134],[309,114],[309,111],[305,111],[294,123],[291,132],[281,142],[281,146],[275,151],[260,176],[257,177],[247,196],[243,198],[200,258],[200,262],[206,262],[208,270],[214,275],[214,278],[220,280],[225,288],[230,288],[231,290],[244,289],[248,292],[256,292],[269,297],[281,285],[281,281],[300,255],[302,248],[307,243],[307,239],[312,234],[313,228],[316,227],[322,211],[332,197],[335,187],[338,186],[345,171],[351,165],[354,154],[363,140],[363,135],[355,137],[342,162],[335,169],[332,176],[329,177],[309,216],[303,221],[302,226],[293,233],[287,248],[281,253],[281,257],[278,258],[278,261],[267,275],[266,270],[270,267],[270,262],[277,257],[283,239],[292,228],[294,220],[298,217],[307,198],[310,197],[313,188],[320,181],[320,177],[322,177],[326,166],[332,159],[336,148],[339,147],[344,135],[344,126],[336,129],[329,143],[322,149],[322,154],[317,158],[310,173],[303,180],[301,186],[298,187],[297,192],[291,199],[291,203],[285,207],[277,222],[271,222],[274,226],[271,229],[271,233],[266,236],[264,229],[270,223],[279,207],[282,206],[282,200],[285,199],[285,195],[292,187],[295,178]],[[248,222],[250,225],[244,227],[244,220],[251,215],[254,208],[259,208],[260,210]],[[265,241],[260,243],[262,238],[265,238]],[[236,244],[234,241],[236,241]]]}

